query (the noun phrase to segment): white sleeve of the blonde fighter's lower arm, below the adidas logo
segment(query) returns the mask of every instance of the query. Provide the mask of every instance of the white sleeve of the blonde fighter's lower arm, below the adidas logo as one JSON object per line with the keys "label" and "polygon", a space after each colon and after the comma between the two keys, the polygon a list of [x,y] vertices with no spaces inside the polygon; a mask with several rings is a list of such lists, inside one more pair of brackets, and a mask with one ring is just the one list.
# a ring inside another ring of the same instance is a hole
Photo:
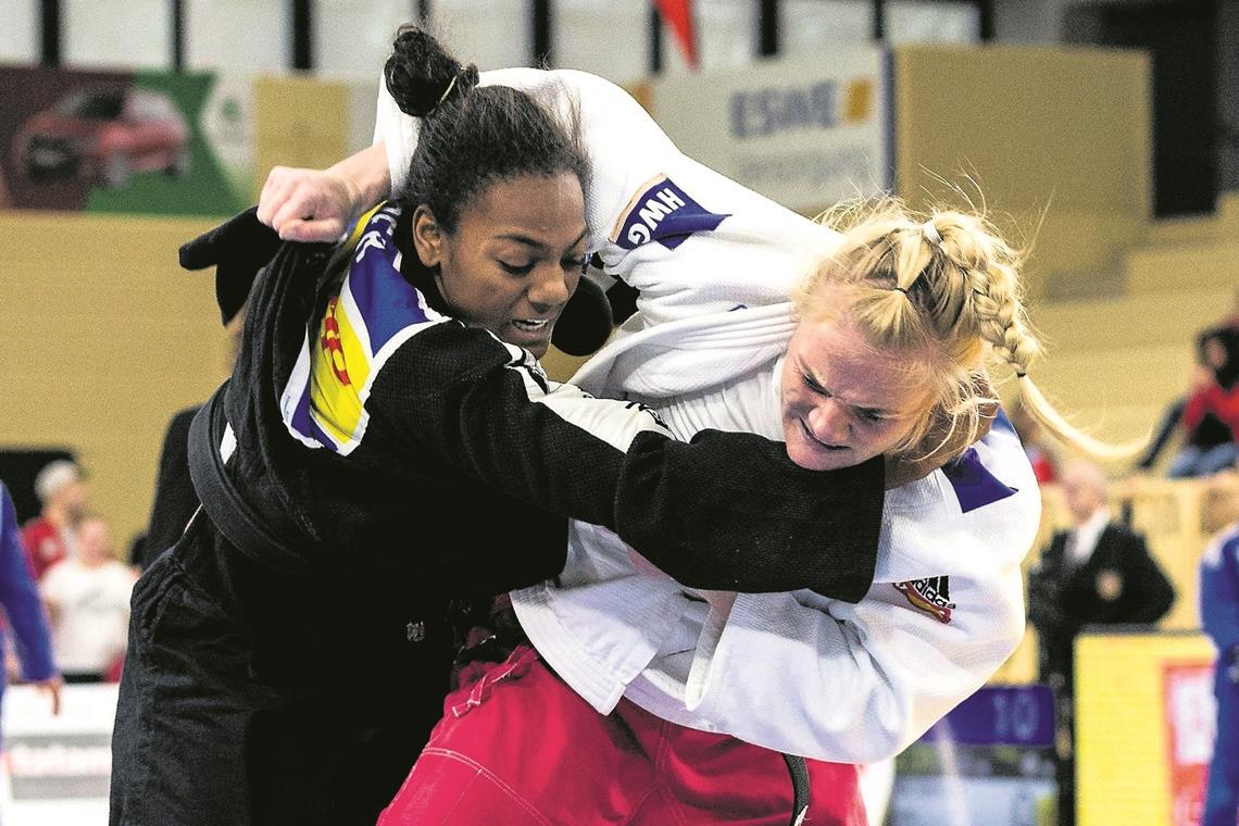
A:
{"label": "white sleeve of the blonde fighter's lower arm, below the adidas logo", "polygon": [[[939,611],[949,620],[927,607],[948,582],[953,607]],[[711,629],[707,620],[689,711],[758,746],[869,763],[903,750],[1002,665],[1023,634],[1023,585],[1010,568],[875,583],[856,606],[812,592],[737,594],[715,639]]]}

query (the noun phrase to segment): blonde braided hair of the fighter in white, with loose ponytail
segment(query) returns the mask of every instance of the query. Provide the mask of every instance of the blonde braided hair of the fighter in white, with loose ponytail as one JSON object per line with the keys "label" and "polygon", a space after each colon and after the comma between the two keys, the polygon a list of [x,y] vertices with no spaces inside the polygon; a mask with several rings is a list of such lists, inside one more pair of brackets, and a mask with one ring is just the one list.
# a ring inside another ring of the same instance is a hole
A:
{"label": "blonde braided hair of the fighter in white, with loose ponytail", "polygon": [[918,214],[897,198],[881,198],[841,204],[819,220],[843,238],[793,293],[798,317],[847,316],[872,346],[904,353],[909,374],[928,378],[927,406],[892,453],[923,450],[932,428],[945,437],[930,454],[975,441],[997,404],[989,370],[995,363],[1015,369],[1023,405],[1059,441],[1094,459],[1139,452],[1144,440],[1113,446],[1079,431],[1028,376],[1042,348],[1021,293],[1023,254],[983,214]]}

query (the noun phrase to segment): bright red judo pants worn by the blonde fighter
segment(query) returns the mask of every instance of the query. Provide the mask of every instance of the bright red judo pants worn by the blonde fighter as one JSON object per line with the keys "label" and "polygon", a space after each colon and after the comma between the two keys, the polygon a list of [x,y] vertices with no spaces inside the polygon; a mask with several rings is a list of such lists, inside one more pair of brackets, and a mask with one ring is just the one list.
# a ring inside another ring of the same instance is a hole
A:
{"label": "bright red judo pants worn by the blonde fighter", "polygon": [[[856,767],[808,760],[810,826],[865,826]],[[486,664],[440,721],[378,826],[787,826],[783,757],[654,717],[600,715],[529,646]]]}

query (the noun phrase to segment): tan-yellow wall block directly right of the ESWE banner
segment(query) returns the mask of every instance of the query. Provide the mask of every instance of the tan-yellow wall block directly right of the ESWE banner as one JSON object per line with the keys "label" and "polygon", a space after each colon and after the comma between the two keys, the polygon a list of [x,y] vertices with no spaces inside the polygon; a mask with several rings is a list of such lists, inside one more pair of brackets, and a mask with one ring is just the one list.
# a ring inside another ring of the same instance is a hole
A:
{"label": "tan-yellow wall block directly right of the ESWE banner", "polygon": [[900,194],[959,203],[938,178],[970,175],[989,207],[1035,240],[1031,296],[1114,286],[1118,254],[1151,214],[1147,54],[901,47],[893,109]]}

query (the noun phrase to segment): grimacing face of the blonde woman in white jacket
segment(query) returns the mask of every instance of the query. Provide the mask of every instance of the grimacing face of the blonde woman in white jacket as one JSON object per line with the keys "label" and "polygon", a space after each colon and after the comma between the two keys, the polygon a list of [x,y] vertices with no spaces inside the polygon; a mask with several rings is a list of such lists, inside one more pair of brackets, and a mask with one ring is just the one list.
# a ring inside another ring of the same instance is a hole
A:
{"label": "grimacing face of the blonde woman in white jacket", "polygon": [[928,384],[906,357],[869,344],[850,321],[803,321],[783,362],[783,437],[809,471],[835,471],[886,453],[916,426]]}

